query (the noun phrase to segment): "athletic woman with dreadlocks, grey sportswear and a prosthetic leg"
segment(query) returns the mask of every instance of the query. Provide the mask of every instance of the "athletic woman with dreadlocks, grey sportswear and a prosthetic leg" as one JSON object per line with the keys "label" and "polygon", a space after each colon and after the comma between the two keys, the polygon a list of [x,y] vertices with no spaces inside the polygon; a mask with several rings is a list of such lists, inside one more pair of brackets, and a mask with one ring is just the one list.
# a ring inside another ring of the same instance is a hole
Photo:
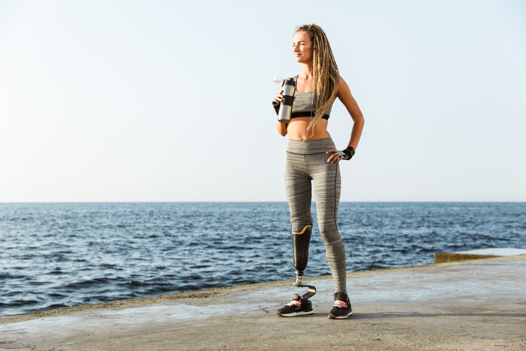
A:
{"label": "athletic woman with dreadlocks, grey sportswear and a prosthetic leg", "polygon": [[[278,122],[277,128],[280,135],[289,136],[285,185],[292,223],[296,274],[302,275],[302,270],[307,265],[308,241],[312,228],[310,181],[313,180],[318,227],[335,284],[335,304],[329,318],[347,318],[352,314],[352,308],[346,287],[345,248],[336,222],[341,187],[338,163],[355,154],[363,129],[363,115],[349,87],[338,73],[327,37],[319,26],[310,24],[299,27],[292,48],[302,70],[295,77],[296,93],[290,122]],[[284,99],[282,92],[272,100],[276,112]],[[350,141],[343,151],[337,151],[327,132],[331,107],[336,98],[345,105],[353,121]],[[306,247],[306,253],[297,252],[301,245],[302,249]],[[298,267],[301,265],[302,267]],[[295,295],[291,303],[278,310],[278,315],[285,317],[312,313],[310,301],[300,295]]]}

